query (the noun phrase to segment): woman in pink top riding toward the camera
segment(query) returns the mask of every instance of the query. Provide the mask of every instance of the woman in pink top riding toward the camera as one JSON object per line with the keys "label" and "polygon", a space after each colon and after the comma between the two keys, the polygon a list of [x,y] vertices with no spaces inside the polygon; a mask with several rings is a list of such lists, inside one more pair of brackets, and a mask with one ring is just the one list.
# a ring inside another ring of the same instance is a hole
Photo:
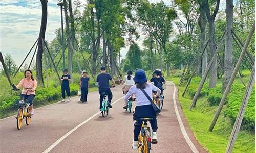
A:
{"label": "woman in pink top riding toward the camera", "polygon": [[[31,116],[34,114],[34,109],[33,109],[33,99],[35,98],[35,89],[37,87],[37,82],[33,78],[33,73],[31,70],[27,69],[24,72],[24,79],[22,79],[19,84],[17,84],[17,88],[22,88],[22,95],[21,98],[27,99],[29,101],[29,112]],[[27,93],[28,92],[28,93]],[[27,93],[27,95],[26,95]]]}

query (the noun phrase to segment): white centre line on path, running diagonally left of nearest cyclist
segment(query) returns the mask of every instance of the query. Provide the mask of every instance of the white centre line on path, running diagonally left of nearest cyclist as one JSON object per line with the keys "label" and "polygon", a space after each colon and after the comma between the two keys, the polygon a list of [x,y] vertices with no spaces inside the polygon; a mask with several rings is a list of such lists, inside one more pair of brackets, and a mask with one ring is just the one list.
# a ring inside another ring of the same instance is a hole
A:
{"label": "white centre line on path, running diagonally left of nearest cyclist", "polygon": [[[119,101],[120,99],[122,99],[123,97],[117,99],[116,101],[114,101],[112,103],[115,104],[117,101]],[[62,140],[64,140],[65,138],[67,138],[70,134],[72,134],[74,131],[76,131],[80,126],[82,126],[83,124],[87,123],[88,121],[90,121],[92,118],[94,118],[95,116],[97,116],[101,111],[98,111],[97,113],[95,113],[93,116],[91,116],[90,118],[88,118],[87,120],[81,122],[80,124],[78,124],[76,127],[74,127],[73,129],[71,129],[68,133],[66,133],[65,135],[63,135],[62,137],[60,137],[57,141],[55,141],[51,146],[49,146],[43,153],[48,153],[50,152],[56,145],[58,145]]]}

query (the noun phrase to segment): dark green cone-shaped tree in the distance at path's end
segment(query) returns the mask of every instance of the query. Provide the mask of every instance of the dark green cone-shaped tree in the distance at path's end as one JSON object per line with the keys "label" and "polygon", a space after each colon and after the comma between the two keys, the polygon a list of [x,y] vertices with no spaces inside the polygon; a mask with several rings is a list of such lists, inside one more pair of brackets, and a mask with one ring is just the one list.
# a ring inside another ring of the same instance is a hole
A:
{"label": "dark green cone-shaped tree in the distance at path's end", "polygon": [[130,46],[126,58],[129,60],[130,67],[133,70],[141,68],[141,50],[138,44],[134,43]]}

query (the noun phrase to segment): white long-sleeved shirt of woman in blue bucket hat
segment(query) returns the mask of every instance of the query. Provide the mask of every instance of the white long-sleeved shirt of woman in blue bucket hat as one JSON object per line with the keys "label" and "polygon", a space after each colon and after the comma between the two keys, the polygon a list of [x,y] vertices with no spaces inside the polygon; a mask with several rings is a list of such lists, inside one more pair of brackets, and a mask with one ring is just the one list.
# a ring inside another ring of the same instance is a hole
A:
{"label": "white long-sleeved shirt of woman in blue bucket hat", "polygon": [[[158,89],[156,86],[154,86],[151,83],[147,83],[146,88],[144,90],[146,91],[148,96],[150,96],[151,99],[152,99],[152,91],[156,91],[158,93],[161,92],[160,89]],[[128,93],[125,95],[124,100],[128,100],[132,94],[134,94],[135,97],[136,97],[137,106],[150,105],[151,104],[150,100],[147,99],[145,94],[140,89],[136,88],[136,85],[133,85],[130,88]]]}

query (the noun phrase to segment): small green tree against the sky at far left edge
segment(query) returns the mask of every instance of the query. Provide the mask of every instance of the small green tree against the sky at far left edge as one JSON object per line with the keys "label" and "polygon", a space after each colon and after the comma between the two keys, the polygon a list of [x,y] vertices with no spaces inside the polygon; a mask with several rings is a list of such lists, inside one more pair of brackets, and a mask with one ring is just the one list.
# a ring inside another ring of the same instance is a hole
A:
{"label": "small green tree against the sky at far left edge", "polygon": [[[11,55],[10,54],[6,54],[5,56],[5,65],[6,65],[6,68],[7,68],[7,72],[9,75],[13,75],[15,74],[15,72],[17,71],[17,65],[15,64],[14,60],[12,59]],[[5,75],[4,73],[4,70],[2,69],[2,75]]]}

